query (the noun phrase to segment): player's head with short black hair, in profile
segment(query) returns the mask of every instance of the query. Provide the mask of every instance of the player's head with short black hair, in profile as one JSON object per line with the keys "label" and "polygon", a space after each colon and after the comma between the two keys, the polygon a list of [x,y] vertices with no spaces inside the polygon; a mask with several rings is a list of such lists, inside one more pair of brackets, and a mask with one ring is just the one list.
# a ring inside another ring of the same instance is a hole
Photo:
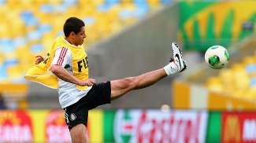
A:
{"label": "player's head with short black hair, in profile", "polygon": [[83,20],[70,17],[63,26],[65,38],[69,38],[69,42],[75,46],[82,45],[83,38],[86,38],[84,26]]}

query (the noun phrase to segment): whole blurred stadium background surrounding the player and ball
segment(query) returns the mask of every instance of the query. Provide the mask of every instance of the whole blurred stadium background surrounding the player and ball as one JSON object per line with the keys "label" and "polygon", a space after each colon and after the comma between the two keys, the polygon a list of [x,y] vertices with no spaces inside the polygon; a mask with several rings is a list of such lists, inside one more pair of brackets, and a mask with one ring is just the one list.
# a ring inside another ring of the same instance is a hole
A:
{"label": "whole blurred stadium background surrounding the player and ball", "polygon": [[[177,42],[187,70],[89,112],[89,142],[256,142],[256,1],[0,0],[0,142],[71,142],[56,90],[24,79],[70,16],[85,23],[97,83],[163,68]],[[214,70],[206,49],[230,61]]]}

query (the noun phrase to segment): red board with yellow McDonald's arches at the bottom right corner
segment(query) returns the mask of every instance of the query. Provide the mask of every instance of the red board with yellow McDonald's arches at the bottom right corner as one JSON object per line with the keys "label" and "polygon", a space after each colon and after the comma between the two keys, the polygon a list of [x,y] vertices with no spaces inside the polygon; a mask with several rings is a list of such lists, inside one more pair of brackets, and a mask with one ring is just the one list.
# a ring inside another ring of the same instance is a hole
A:
{"label": "red board with yellow McDonald's arches at the bottom right corner", "polygon": [[223,112],[221,141],[224,143],[256,142],[256,113]]}

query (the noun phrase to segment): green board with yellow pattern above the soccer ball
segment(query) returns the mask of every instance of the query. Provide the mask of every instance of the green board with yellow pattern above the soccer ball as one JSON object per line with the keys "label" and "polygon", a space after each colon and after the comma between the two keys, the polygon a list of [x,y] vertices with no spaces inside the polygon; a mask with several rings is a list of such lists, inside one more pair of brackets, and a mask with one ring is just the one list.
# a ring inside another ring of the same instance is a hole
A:
{"label": "green board with yellow pattern above the soccer ball", "polygon": [[179,2],[179,38],[185,49],[226,48],[255,33],[256,2]]}

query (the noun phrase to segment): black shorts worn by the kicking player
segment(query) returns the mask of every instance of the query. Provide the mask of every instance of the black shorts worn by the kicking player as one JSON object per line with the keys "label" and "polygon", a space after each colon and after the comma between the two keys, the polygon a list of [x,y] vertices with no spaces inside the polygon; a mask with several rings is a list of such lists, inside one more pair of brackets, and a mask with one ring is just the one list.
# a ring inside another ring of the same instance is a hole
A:
{"label": "black shorts worn by the kicking player", "polygon": [[87,126],[88,111],[99,105],[110,103],[110,82],[97,83],[91,87],[91,90],[80,101],[64,108],[65,122],[69,126],[69,130],[79,123]]}

